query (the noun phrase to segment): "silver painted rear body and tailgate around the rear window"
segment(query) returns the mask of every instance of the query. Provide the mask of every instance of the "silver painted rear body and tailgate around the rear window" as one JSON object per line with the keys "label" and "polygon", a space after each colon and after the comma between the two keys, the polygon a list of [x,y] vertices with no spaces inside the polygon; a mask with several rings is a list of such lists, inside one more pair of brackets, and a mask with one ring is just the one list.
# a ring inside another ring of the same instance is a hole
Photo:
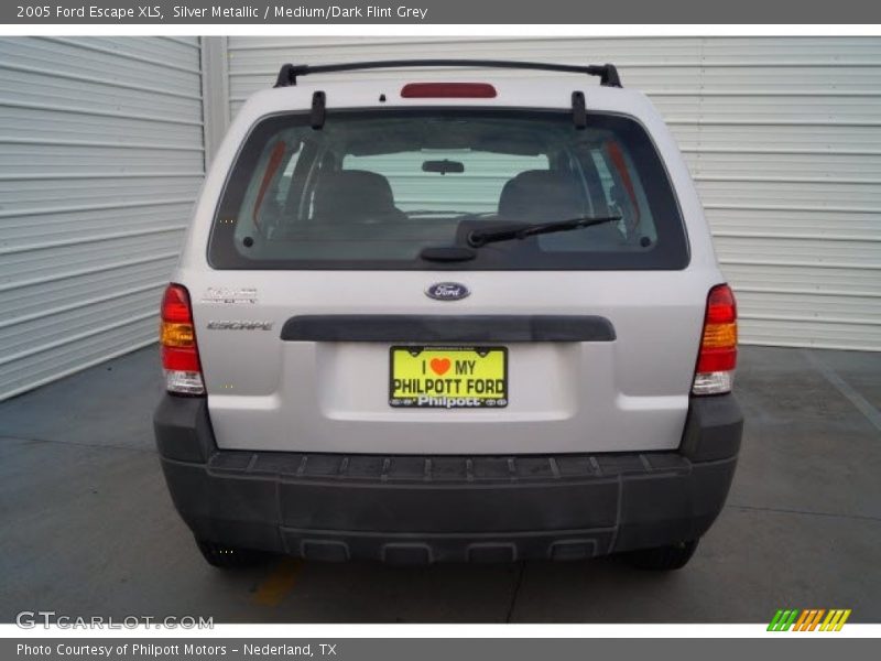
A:
{"label": "silver painted rear body and tailgate around the rear window", "polygon": [[[569,107],[572,84],[492,80],[496,99],[431,105]],[[722,281],[699,201],[676,145],[645,97],[584,85],[588,111],[627,115],[652,136],[685,219],[690,262],[682,271],[242,271],[213,270],[206,246],[239,144],[267,115],[307,108],[426,106],[400,99],[401,80],[302,85],[255,95],[241,110],[207,177],[174,280],[194,304],[218,446],[348,453],[550,453],[668,449],[679,443],[706,295]],[[456,302],[425,296],[438,281],[465,283]],[[209,288],[254,290],[255,303],[203,302]],[[605,343],[510,344],[504,410],[403,410],[388,404],[389,345],[282,342],[305,314],[599,315]],[[271,330],[210,330],[209,321],[272,323]]]}

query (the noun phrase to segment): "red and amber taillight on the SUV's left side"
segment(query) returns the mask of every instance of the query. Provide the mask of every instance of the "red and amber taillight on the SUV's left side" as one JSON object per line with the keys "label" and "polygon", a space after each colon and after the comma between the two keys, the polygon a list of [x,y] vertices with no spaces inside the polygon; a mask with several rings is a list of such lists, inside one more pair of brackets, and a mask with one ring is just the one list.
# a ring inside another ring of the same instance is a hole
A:
{"label": "red and amber taillight on the SUV's left side", "polygon": [[181,284],[170,284],[162,299],[159,343],[165,388],[181,394],[205,394],[199,350],[193,326],[189,294]]}

